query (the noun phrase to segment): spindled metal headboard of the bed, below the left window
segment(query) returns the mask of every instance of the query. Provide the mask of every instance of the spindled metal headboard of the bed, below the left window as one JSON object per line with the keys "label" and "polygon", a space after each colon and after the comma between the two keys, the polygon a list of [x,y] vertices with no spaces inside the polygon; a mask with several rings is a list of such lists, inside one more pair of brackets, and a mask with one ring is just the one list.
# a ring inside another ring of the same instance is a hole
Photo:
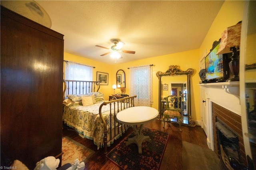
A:
{"label": "spindled metal headboard of the bed, below the left window", "polygon": [[63,84],[63,99],[66,95],[98,92],[100,89],[98,81],[63,80]]}

